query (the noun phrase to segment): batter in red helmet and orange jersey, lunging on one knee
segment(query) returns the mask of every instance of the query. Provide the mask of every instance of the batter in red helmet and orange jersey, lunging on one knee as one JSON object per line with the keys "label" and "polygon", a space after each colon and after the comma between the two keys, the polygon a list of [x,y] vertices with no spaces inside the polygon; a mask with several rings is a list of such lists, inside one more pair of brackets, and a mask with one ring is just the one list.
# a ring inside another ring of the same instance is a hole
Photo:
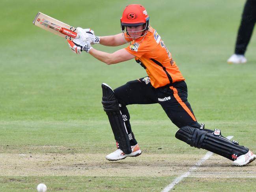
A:
{"label": "batter in red helmet and orange jersey, lunging on one knee", "polygon": [[[172,123],[179,128],[176,138],[191,147],[206,149],[226,157],[233,160],[236,166],[244,166],[256,158],[247,147],[222,136],[219,129],[205,129],[204,124],[200,125],[196,121],[187,101],[185,78],[161,36],[149,25],[149,16],[143,6],[131,4],[125,7],[120,34],[98,37],[90,29],[77,29],[79,39],[68,41],[75,53],[85,51],[107,65],[135,59],[148,74],[114,90],[107,84],[102,84],[103,109],[107,113],[118,148],[106,156],[107,160],[136,157],[142,153],[132,132],[126,106],[153,103],[159,103]],[[91,43],[105,46],[129,44],[110,54],[92,48]]]}

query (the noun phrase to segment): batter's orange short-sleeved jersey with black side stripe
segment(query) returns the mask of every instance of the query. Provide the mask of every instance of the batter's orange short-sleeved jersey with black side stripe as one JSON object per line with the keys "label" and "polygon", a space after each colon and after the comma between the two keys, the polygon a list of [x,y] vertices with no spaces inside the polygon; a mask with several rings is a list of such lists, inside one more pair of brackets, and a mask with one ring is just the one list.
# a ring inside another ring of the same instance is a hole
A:
{"label": "batter's orange short-sleeved jersey with black side stripe", "polygon": [[[125,34],[126,38],[127,34]],[[144,37],[133,41],[125,49],[133,54],[137,63],[146,69],[154,88],[159,88],[170,83],[185,80],[178,66],[172,60],[172,54],[168,51],[156,30],[149,26],[148,33]],[[141,41],[141,42],[140,42]]]}

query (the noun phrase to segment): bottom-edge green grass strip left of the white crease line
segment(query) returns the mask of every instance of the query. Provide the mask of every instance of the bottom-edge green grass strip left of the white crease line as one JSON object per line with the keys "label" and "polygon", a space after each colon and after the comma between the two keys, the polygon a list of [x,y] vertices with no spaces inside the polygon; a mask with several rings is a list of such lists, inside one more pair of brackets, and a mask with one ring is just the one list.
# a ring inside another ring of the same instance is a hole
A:
{"label": "bottom-edge green grass strip left of the white crease line", "polygon": [[168,185],[167,177],[0,177],[0,190],[7,187],[12,192],[34,192],[38,182],[49,183],[47,191],[107,192],[107,191],[154,191]]}

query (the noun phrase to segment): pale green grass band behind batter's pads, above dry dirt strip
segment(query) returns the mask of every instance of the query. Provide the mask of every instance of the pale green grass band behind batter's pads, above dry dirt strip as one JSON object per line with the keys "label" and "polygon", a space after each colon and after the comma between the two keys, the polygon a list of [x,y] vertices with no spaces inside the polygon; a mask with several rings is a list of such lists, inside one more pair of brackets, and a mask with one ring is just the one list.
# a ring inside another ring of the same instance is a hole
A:
{"label": "pale green grass band behind batter's pads, above dry dirt strip", "polygon": [[[205,153],[178,141],[169,120],[132,121],[134,133],[144,153]],[[208,127],[222,129],[225,136],[256,150],[255,121],[206,121]],[[113,150],[113,134],[108,121],[0,121],[2,153],[102,153]],[[246,129],[245,129],[246,128]],[[251,141],[251,142],[248,142]],[[41,148],[50,145],[55,147]],[[58,147],[59,146],[59,147]],[[67,149],[73,149],[68,151]],[[158,150],[162,148],[162,150]]]}

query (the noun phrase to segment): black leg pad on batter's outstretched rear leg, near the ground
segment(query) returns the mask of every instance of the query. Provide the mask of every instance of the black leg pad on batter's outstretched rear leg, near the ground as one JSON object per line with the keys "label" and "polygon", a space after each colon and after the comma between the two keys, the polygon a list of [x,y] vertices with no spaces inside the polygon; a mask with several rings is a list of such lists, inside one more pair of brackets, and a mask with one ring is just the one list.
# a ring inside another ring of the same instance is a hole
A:
{"label": "black leg pad on batter's outstretched rear leg, near the ground", "polygon": [[221,135],[216,136],[204,129],[189,126],[181,127],[176,132],[175,137],[186,142],[191,147],[206,149],[233,161],[240,155],[244,155],[249,151],[247,147],[235,144]]}

